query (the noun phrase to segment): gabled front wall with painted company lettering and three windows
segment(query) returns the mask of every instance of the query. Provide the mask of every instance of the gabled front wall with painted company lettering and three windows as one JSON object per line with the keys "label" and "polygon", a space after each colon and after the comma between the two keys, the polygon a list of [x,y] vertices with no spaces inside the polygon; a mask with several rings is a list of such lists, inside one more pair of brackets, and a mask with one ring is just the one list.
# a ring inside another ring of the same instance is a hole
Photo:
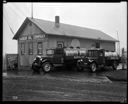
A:
{"label": "gabled front wall with painted company lettering and three windows", "polygon": [[[32,36],[35,35],[45,35],[43,39],[26,39],[26,40],[20,40],[22,37]],[[29,23],[26,25],[24,30],[20,34],[20,38],[18,39],[18,53],[19,53],[19,68],[21,66],[31,66],[34,58],[37,55],[37,43],[42,42],[42,49],[43,49],[43,55],[46,54],[46,48],[47,48],[47,35],[44,34],[39,28],[37,28],[34,24],[29,25]],[[29,42],[33,43],[33,54],[29,55],[28,51],[28,44]],[[25,54],[21,55],[21,43],[25,43]]]}

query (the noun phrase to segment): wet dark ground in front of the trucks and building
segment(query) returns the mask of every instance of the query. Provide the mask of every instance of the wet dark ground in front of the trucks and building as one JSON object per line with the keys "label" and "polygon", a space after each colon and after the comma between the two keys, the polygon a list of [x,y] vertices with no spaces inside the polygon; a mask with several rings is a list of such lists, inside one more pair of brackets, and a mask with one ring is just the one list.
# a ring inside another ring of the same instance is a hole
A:
{"label": "wet dark ground in front of the trucks and building", "polygon": [[99,71],[32,74],[8,72],[3,77],[3,101],[127,101],[127,82],[111,81]]}

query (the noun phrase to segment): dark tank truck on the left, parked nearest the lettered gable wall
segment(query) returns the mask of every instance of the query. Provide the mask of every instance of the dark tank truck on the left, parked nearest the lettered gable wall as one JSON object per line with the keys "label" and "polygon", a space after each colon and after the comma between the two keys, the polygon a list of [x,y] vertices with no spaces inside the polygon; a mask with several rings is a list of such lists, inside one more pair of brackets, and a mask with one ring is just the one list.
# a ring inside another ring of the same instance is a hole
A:
{"label": "dark tank truck on the left, parked nearest the lettered gable wall", "polygon": [[79,47],[47,49],[46,56],[37,56],[34,59],[32,69],[35,71],[41,69],[47,73],[61,66],[82,71],[83,68],[78,66],[78,62],[80,59],[84,59],[86,54],[87,50]]}

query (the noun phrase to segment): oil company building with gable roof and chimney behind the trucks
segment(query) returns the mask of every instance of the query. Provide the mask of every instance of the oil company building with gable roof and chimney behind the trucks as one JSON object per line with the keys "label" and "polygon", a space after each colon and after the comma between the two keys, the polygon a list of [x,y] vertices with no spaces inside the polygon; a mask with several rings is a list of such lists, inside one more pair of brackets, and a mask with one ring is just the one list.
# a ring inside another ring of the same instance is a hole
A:
{"label": "oil company building with gable roof and chimney behind the trucks", "polygon": [[56,47],[103,48],[115,51],[116,39],[94,29],[26,18],[13,37],[18,40],[18,65],[31,66],[36,55],[46,55],[46,49]]}

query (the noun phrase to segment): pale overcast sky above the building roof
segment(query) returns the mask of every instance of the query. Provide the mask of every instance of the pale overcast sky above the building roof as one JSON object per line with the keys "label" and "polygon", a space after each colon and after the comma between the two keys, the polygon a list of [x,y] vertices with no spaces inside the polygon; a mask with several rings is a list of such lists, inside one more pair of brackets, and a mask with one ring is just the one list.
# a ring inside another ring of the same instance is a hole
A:
{"label": "pale overcast sky above the building roof", "polygon": [[[33,17],[101,30],[120,40],[127,48],[127,4],[120,3],[33,3]],[[31,3],[3,4],[3,52],[17,53],[17,41],[12,40],[26,17],[31,17]],[[13,30],[14,34],[10,31]]]}

